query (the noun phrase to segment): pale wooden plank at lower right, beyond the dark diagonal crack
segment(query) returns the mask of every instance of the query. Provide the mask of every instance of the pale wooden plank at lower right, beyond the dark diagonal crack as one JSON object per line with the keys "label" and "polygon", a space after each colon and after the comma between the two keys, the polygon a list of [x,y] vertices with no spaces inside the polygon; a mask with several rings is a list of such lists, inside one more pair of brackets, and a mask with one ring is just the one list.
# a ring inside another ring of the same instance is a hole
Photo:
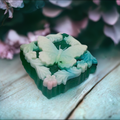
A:
{"label": "pale wooden plank at lower right, beyond the dark diagonal crack", "polygon": [[120,119],[120,66],[94,87],[69,119]]}

